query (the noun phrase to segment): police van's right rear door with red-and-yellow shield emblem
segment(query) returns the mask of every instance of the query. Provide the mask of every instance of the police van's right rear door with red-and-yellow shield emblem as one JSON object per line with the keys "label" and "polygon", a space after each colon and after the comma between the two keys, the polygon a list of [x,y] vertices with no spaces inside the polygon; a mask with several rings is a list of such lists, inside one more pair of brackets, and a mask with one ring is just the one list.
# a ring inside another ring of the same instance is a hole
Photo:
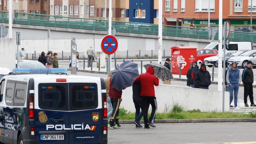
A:
{"label": "police van's right rear door with red-and-yellow shield emblem", "polygon": [[69,83],[70,143],[102,143],[102,99],[96,83]]}

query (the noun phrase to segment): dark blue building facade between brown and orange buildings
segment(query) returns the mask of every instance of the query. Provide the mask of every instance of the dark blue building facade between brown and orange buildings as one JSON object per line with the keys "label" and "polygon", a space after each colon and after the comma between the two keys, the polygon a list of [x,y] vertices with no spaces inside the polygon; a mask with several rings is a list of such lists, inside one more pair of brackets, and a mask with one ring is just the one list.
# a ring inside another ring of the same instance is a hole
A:
{"label": "dark blue building facade between brown and orange buildings", "polygon": [[[145,9],[145,18],[135,18],[136,9]],[[154,0],[130,0],[129,22],[154,23]]]}

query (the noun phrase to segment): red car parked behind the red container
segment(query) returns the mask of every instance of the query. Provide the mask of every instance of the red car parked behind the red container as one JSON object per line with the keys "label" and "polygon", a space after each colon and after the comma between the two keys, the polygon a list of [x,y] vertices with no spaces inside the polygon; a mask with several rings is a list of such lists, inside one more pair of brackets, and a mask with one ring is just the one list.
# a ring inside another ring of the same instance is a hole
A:
{"label": "red car parked behind the red container", "polygon": [[196,58],[204,63],[204,59],[210,56],[216,56],[218,51],[216,49],[197,49]]}

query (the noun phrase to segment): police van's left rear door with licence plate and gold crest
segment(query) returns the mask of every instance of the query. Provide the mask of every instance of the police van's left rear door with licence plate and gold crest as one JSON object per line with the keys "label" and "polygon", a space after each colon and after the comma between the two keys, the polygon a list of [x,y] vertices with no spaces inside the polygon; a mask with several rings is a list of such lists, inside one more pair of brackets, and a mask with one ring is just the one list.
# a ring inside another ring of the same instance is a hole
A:
{"label": "police van's left rear door with licence plate and gold crest", "polygon": [[69,143],[68,83],[39,83],[35,143]]}

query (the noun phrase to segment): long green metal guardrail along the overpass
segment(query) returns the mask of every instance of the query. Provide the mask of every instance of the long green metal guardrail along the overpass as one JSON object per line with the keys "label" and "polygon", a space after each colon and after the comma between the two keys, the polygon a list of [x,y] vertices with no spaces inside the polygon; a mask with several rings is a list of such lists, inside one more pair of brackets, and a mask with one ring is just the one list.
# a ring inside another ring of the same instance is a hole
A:
{"label": "long green metal guardrail along the overpass", "polygon": [[[0,11],[0,22],[8,23],[8,11]],[[41,15],[19,12],[15,12],[13,22],[15,24],[50,26],[71,29],[88,29],[96,31],[106,31],[108,28],[108,20],[103,19],[87,19],[79,17],[63,17],[55,15]],[[112,21],[112,26],[115,27],[117,32],[158,35],[157,24]],[[163,25],[163,35],[185,38],[209,39],[207,29],[190,28],[184,26]],[[218,40],[218,33],[216,34],[214,39]],[[256,33],[230,31],[228,39],[230,41],[256,43]]]}

